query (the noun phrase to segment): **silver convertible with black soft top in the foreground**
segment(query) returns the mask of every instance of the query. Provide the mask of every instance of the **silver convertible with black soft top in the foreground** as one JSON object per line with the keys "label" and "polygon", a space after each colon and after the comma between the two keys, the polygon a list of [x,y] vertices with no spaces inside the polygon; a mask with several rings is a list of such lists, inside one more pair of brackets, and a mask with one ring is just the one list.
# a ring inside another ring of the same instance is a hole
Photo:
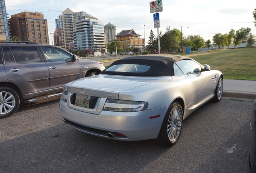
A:
{"label": "silver convertible with black soft top in the foreground", "polygon": [[183,120],[204,103],[220,101],[222,91],[223,74],[209,65],[178,55],[134,56],[65,84],[60,114],[91,135],[172,146]]}

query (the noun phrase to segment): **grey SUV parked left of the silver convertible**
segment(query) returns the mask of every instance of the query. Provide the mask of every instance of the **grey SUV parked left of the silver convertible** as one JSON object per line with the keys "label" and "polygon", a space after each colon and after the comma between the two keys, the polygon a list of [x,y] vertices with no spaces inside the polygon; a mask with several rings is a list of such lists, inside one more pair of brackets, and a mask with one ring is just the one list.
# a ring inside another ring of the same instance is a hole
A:
{"label": "grey SUV parked left of the silver convertible", "polygon": [[105,69],[99,61],[77,58],[57,46],[32,43],[0,43],[0,118],[15,113],[21,102],[56,97],[67,82]]}

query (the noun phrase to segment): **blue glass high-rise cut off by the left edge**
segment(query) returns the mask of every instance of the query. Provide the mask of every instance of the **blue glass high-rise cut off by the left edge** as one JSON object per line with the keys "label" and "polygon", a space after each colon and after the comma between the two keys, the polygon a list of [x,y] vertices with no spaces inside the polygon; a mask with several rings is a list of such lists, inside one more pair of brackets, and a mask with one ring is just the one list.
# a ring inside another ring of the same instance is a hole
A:
{"label": "blue glass high-rise cut off by the left edge", "polygon": [[5,1],[0,0],[0,40],[10,41]]}

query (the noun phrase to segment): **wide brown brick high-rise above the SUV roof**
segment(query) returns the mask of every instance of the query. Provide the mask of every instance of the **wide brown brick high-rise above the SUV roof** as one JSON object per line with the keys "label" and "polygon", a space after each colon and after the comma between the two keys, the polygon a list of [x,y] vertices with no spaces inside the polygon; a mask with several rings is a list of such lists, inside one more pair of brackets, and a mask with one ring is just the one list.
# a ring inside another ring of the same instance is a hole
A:
{"label": "wide brown brick high-rise above the SUV roof", "polygon": [[11,16],[10,29],[12,36],[20,41],[31,41],[49,44],[47,19],[39,12],[21,12]]}

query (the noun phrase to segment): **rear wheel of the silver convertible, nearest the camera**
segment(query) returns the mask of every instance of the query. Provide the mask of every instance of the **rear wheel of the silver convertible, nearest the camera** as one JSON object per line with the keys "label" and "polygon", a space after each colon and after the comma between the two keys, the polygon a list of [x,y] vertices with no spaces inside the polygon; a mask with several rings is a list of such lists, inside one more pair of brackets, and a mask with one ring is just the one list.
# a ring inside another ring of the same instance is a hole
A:
{"label": "rear wheel of the silver convertible, nearest the camera", "polygon": [[180,103],[174,101],[165,114],[159,135],[154,141],[165,146],[172,146],[180,138],[183,125],[183,111]]}

